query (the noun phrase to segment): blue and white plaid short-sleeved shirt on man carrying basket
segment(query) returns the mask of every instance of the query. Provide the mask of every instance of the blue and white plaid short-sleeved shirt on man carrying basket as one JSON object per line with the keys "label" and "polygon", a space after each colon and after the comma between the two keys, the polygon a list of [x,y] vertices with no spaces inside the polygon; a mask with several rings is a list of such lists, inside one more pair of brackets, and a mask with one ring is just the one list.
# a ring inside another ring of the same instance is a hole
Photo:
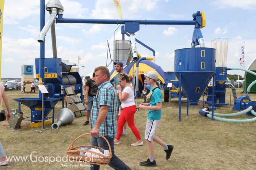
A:
{"label": "blue and white plaid short-sleeved shirt on man carrying basket", "polygon": [[91,130],[97,121],[101,105],[108,106],[108,114],[104,122],[100,125],[99,134],[114,138],[117,133],[116,113],[118,109],[118,96],[110,81],[102,83],[98,88],[98,93],[93,97]]}

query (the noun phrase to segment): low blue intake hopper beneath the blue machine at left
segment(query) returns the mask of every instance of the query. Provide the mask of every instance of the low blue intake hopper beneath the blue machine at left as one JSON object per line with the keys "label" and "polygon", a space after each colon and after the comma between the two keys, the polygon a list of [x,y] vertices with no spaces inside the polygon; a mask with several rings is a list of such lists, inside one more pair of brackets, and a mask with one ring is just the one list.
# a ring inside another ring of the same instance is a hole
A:
{"label": "low blue intake hopper beneath the blue machine at left", "polygon": [[[36,108],[42,108],[42,98],[17,98],[13,99],[15,101],[20,101],[20,104],[23,104],[30,108],[31,111],[36,110]],[[44,99],[44,117],[49,114],[53,107],[58,103],[60,99],[45,98]]]}

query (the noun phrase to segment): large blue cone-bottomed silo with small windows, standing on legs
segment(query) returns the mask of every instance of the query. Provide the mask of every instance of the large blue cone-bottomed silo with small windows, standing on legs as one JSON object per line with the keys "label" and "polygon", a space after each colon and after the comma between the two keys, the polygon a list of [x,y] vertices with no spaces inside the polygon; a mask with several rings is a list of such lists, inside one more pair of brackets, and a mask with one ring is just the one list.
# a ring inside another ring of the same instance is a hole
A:
{"label": "large blue cone-bottomed silo with small windows, standing on legs", "polygon": [[197,101],[215,73],[215,51],[214,48],[175,50],[174,73],[190,105],[198,105]]}

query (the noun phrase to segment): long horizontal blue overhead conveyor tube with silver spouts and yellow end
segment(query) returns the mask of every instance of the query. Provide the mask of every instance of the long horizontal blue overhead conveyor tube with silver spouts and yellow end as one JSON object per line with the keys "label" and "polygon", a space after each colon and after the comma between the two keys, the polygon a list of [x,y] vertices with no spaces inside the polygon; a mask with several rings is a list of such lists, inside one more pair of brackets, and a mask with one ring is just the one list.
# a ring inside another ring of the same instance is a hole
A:
{"label": "long horizontal blue overhead conveyor tube with silver spouts and yellow end", "polygon": [[[44,8],[44,0],[41,0],[40,8],[41,10]],[[41,11],[40,10],[40,11]],[[171,20],[117,20],[117,19],[74,19],[74,18],[63,18],[63,6],[61,5],[59,0],[50,0],[46,5],[46,10],[51,13],[50,18],[46,22],[45,26],[41,28],[41,32],[39,34],[38,42],[44,43],[44,37],[46,33],[48,32],[49,28],[54,27],[54,20],[56,23],[84,23],[84,24],[124,24],[124,31],[130,34],[130,47],[132,51],[132,58],[133,60],[138,59],[137,51],[136,51],[136,45],[135,45],[135,35],[137,31],[140,30],[140,25],[194,25],[194,33],[192,37],[192,43],[191,46],[195,47],[197,45],[203,45],[204,46],[204,40],[202,39],[202,33],[200,28],[203,28],[205,26],[205,17],[204,12],[197,11],[192,15],[193,20],[192,21],[171,21]],[[43,11],[43,10],[42,10]],[[44,13],[44,11],[43,11]],[[53,30],[53,29],[52,29]],[[55,29],[54,29],[55,30]],[[54,32],[55,34],[55,32]],[[124,35],[124,34],[123,34]],[[52,36],[52,41],[56,41],[55,37]],[[138,41],[137,41],[138,42]],[[54,43],[52,43],[54,44]],[[56,43],[55,43],[56,44]],[[41,47],[41,46],[40,46]],[[53,47],[54,49],[54,47]],[[55,49],[54,49],[55,50]],[[55,52],[53,52],[55,53]],[[40,58],[44,59],[44,56]],[[41,60],[40,60],[41,61]],[[43,61],[42,61],[43,63]],[[41,64],[40,64],[41,65]],[[44,71],[43,69],[40,71]],[[42,74],[43,75],[43,74]],[[40,75],[40,78],[41,76]],[[138,80],[136,83],[139,83]],[[138,92],[138,85],[136,85],[136,91]]]}

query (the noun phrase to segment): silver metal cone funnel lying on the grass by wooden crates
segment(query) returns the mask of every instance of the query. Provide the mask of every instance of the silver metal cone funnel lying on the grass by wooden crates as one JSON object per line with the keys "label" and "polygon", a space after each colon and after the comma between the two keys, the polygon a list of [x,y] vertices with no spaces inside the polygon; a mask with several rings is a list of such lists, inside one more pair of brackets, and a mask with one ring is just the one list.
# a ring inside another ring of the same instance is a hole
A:
{"label": "silver metal cone funnel lying on the grass by wooden crates", "polygon": [[61,125],[70,124],[74,119],[75,114],[70,109],[60,109],[58,112],[58,121],[52,124],[52,129],[58,129]]}

